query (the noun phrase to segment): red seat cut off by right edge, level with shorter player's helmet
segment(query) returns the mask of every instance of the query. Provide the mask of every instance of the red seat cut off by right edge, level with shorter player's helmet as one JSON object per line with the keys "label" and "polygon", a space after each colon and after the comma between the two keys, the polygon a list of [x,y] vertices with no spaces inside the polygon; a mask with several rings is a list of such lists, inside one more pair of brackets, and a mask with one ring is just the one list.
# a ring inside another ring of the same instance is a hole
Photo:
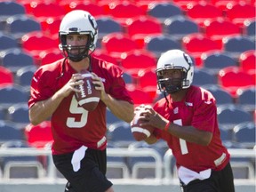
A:
{"label": "red seat cut off by right edge, level with shorter player's helmet", "polygon": [[256,70],[256,66],[255,66],[256,51],[250,50],[250,51],[241,53],[238,61],[239,61],[239,66],[244,71]]}

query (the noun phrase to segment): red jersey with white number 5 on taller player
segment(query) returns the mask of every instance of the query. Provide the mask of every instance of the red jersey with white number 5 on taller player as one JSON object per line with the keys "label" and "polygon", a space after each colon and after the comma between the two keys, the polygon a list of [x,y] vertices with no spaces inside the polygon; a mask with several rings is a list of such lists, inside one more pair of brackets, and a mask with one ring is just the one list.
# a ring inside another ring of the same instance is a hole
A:
{"label": "red jersey with white number 5 on taller player", "polygon": [[[93,57],[91,62],[92,72],[102,79],[105,92],[116,100],[132,103],[125,89],[123,71],[112,63]],[[38,68],[32,79],[28,107],[31,108],[37,101],[52,97],[68,83],[74,73],[77,72],[70,67],[68,60],[64,63],[64,59]],[[52,114],[52,153],[58,155],[73,152],[83,145],[95,149],[106,148],[106,108],[100,100],[97,108],[88,112],[78,105],[75,92],[70,93]]]}

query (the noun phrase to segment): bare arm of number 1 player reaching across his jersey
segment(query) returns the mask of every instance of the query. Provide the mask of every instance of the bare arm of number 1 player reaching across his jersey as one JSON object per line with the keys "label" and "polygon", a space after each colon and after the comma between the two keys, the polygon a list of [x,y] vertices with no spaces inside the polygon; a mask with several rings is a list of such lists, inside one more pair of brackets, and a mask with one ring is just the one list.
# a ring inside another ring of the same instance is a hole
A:
{"label": "bare arm of number 1 player reaching across his jersey", "polygon": [[[178,124],[168,124],[169,121],[158,114],[153,108],[147,107],[148,110],[145,113],[144,118],[148,121],[143,123],[145,125],[152,125],[160,130],[166,130],[173,136],[180,139],[187,140],[188,142],[194,142],[199,145],[207,146],[212,140],[212,132],[205,132],[196,129],[193,126],[181,126]],[[142,124],[141,124],[142,125]],[[167,125],[167,127],[166,127]]]}

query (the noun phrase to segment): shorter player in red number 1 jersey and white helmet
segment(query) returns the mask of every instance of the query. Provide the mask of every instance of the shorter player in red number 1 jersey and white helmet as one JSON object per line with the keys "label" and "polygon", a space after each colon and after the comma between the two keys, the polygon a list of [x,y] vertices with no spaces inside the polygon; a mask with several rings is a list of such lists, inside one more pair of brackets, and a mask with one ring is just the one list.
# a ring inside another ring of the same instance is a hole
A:
{"label": "shorter player in red number 1 jersey and white helmet", "polygon": [[[227,148],[220,140],[216,101],[211,92],[191,85],[193,61],[180,50],[164,52],[157,62],[156,76],[164,98],[146,109],[140,118],[155,131],[145,141],[167,142],[176,159],[184,192],[233,192],[234,178]],[[167,95],[168,94],[168,95]]]}

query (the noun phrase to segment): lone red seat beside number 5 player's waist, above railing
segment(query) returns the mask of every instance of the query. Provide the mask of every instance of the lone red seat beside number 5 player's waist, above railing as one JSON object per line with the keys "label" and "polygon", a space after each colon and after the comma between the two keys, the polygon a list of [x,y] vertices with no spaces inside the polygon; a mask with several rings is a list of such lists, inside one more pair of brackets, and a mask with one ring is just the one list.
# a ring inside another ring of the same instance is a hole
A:
{"label": "lone red seat beside number 5 player's waist, above railing", "polygon": [[25,136],[29,146],[44,148],[46,144],[52,143],[51,122],[44,121],[37,125],[28,124],[25,128]]}

